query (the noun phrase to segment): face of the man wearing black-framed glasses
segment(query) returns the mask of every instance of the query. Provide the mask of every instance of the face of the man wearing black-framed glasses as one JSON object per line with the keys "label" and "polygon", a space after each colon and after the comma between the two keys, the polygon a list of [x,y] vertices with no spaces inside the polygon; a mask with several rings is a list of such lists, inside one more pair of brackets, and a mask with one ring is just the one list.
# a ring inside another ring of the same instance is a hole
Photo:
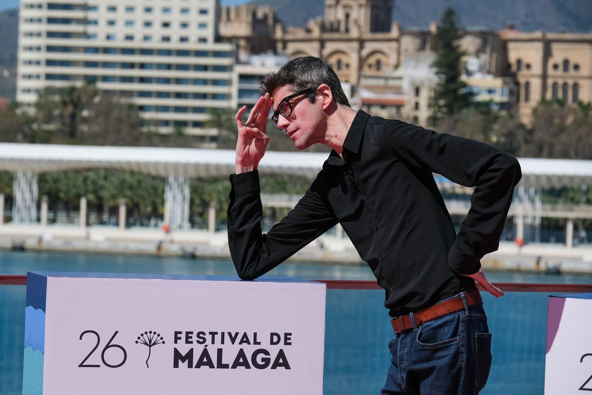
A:
{"label": "face of the man wearing black-framed glasses", "polygon": [[[290,85],[275,88],[272,92],[274,106],[272,110],[278,109],[279,102],[284,97],[294,94]],[[278,114],[278,128],[285,130],[286,135],[294,142],[298,149],[307,148],[320,141],[324,137],[324,113],[321,110],[318,100],[310,103],[307,95],[303,94],[289,99],[292,106],[292,113],[286,118]]]}

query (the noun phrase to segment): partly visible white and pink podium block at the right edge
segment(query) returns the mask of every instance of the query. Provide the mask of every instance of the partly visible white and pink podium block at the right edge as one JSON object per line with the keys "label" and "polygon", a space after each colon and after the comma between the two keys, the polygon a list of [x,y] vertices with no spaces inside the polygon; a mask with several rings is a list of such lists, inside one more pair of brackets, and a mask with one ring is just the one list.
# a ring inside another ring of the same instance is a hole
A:
{"label": "partly visible white and pink podium block at the right edge", "polygon": [[592,294],[549,296],[545,395],[587,391],[592,391]]}

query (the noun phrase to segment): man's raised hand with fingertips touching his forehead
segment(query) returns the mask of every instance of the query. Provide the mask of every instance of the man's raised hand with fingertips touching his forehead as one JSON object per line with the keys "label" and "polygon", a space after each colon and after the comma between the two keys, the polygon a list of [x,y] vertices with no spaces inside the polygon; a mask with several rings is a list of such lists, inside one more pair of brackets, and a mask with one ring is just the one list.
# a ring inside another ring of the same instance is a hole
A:
{"label": "man's raised hand with fingertips touching his forehead", "polygon": [[236,174],[245,173],[246,171],[255,170],[263,155],[265,155],[265,148],[269,142],[269,136],[266,135],[267,117],[269,110],[274,104],[269,93],[257,100],[257,103],[249,113],[247,122],[243,123],[242,116],[244,110],[243,106],[234,116],[236,119],[236,126],[239,129],[239,136],[236,142],[236,160],[234,161],[234,171]]}

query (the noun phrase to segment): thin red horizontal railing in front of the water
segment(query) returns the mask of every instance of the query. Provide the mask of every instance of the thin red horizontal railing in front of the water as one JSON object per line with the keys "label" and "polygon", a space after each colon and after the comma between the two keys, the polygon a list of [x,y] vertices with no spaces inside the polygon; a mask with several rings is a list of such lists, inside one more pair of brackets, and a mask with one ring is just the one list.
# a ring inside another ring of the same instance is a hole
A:
{"label": "thin red horizontal railing in front of the water", "polygon": [[[328,289],[382,289],[372,280],[325,280]],[[0,275],[0,285],[26,285],[25,275]],[[507,292],[592,292],[592,284],[533,284],[516,282],[496,282],[497,288]],[[480,285],[478,288],[483,291]]]}

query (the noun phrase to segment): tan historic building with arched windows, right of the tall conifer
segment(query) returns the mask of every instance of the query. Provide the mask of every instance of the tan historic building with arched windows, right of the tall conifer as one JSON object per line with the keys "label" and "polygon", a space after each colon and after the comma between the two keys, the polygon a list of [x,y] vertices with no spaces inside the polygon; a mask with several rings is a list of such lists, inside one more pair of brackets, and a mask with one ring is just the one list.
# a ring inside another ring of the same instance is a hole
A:
{"label": "tan historic building with arched windows, right of the tall conifer", "polygon": [[592,101],[592,33],[500,32],[517,81],[520,119],[529,125],[542,100]]}

